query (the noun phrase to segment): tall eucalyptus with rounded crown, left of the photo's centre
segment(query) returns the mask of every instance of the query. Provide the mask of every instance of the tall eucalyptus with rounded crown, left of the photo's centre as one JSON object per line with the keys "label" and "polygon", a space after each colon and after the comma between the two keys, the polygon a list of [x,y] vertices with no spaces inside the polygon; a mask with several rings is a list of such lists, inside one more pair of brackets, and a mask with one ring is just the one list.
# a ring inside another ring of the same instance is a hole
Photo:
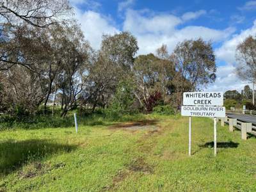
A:
{"label": "tall eucalyptus with rounded crown, left of the photo's centre", "polygon": [[119,81],[131,75],[137,51],[137,40],[128,32],[102,36],[90,66],[87,90],[82,94],[84,102],[92,104],[92,111],[111,102]]}

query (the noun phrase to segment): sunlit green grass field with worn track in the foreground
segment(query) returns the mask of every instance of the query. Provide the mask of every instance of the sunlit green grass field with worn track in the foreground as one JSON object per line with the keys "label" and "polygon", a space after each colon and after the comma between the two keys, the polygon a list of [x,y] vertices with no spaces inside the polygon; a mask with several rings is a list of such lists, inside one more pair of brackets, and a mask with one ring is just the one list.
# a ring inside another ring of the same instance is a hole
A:
{"label": "sunlit green grass field with worn track in the foreground", "polygon": [[256,191],[255,138],[218,124],[214,157],[213,121],[193,118],[189,157],[188,118],[144,118],[1,131],[0,191]]}

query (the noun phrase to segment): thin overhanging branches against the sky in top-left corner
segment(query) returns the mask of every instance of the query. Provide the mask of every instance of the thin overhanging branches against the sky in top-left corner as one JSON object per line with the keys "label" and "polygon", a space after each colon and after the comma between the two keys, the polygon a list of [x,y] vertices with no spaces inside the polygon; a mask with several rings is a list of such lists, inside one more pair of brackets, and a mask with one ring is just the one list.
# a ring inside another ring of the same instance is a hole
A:
{"label": "thin overhanging branches against the sky in top-left corner", "polygon": [[45,28],[63,22],[71,7],[67,0],[3,0],[0,3],[0,19],[8,26],[26,22],[33,27]]}

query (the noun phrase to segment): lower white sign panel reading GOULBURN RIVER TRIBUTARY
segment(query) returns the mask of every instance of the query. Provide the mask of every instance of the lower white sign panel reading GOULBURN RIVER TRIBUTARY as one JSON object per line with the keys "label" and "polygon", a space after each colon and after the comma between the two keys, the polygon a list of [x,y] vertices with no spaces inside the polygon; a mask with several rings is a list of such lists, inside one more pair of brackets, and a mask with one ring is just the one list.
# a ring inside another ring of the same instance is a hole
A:
{"label": "lower white sign panel reading GOULBURN RIVER TRIBUTARY", "polygon": [[209,116],[209,117],[225,117],[225,107],[215,106],[182,106],[182,116]]}

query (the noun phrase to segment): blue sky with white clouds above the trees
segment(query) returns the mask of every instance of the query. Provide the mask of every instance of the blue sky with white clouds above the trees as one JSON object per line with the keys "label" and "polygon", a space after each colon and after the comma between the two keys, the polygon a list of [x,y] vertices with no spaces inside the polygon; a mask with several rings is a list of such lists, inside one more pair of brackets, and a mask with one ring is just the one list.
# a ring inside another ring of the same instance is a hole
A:
{"label": "blue sky with white clouds above the trees", "polygon": [[241,90],[235,72],[236,46],[256,35],[256,1],[106,1],[70,0],[84,36],[99,49],[102,34],[130,31],[138,54],[154,53],[162,44],[170,52],[186,39],[211,40],[218,66],[216,82],[207,91]]}

